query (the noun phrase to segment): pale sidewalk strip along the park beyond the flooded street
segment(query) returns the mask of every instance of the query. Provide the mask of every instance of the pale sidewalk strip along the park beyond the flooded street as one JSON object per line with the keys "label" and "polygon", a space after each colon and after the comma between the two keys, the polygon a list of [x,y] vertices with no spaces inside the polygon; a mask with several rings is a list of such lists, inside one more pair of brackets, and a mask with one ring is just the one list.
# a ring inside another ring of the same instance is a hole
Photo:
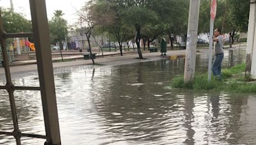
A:
{"label": "pale sidewalk strip along the park beyond the flooded street", "polygon": [[[137,53],[125,53],[127,55],[124,56],[116,56],[116,57],[104,57],[104,58],[97,58],[95,59],[95,63],[97,64],[104,64],[106,62],[145,62],[145,61],[153,61],[153,60],[161,60],[161,59],[167,59],[170,56],[173,55],[185,55],[186,50],[169,50],[166,53],[166,57],[161,57],[161,53],[159,52],[154,52],[154,53],[148,53],[148,52],[143,52],[143,60],[136,59],[138,58]],[[83,57],[83,56],[82,56]],[[29,60],[30,63],[30,60]],[[36,63],[35,60],[33,63]],[[79,66],[79,65],[85,65],[85,64],[92,64],[92,60],[76,60],[76,61],[69,61],[69,62],[53,62],[52,66],[54,68],[58,67],[69,67],[69,66]],[[11,72],[24,72],[24,71],[36,71],[37,66],[36,64],[30,64],[30,65],[25,65],[25,66],[12,66],[10,67]],[[4,74],[4,68],[0,68],[0,74]]]}

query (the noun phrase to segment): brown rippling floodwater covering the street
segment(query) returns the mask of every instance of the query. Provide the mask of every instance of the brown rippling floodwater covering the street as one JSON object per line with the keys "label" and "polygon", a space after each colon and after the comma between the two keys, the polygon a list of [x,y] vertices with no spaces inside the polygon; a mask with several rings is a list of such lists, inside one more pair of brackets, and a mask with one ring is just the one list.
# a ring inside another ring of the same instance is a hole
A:
{"label": "brown rippling floodwater covering the street", "polygon": [[[244,62],[244,53],[226,51],[223,67]],[[196,63],[205,72],[207,55]],[[256,95],[170,88],[183,72],[184,59],[56,70],[62,144],[255,144]],[[34,72],[13,74],[13,81],[38,86]],[[20,130],[45,134],[40,92],[16,91],[15,101]],[[0,104],[0,130],[12,132],[4,91]],[[15,140],[2,135],[0,144]],[[22,137],[22,144],[44,139]]]}

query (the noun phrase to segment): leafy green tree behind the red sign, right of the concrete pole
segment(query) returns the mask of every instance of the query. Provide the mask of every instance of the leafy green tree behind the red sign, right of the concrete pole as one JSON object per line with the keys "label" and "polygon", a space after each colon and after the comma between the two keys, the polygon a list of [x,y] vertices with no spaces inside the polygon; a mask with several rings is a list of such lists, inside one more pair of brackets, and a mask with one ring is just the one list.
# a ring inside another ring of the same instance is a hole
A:
{"label": "leafy green tree behind the red sign, right of the concrete pole", "polygon": [[[202,0],[198,32],[209,32],[211,1]],[[246,32],[250,0],[220,0],[218,1],[215,27],[221,28],[224,33],[230,34],[230,47],[234,43],[237,32]]]}

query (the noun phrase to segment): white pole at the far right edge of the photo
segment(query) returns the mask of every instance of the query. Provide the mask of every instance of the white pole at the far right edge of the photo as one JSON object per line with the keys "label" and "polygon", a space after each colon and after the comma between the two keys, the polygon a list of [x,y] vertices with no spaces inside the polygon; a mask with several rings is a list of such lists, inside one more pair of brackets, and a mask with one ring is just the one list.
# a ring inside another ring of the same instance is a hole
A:
{"label": "white pole at the far right edge of the photo", "polygon": [[[251,74],[256,75],[255,71],[255,62],[256,60],[256,51],[253,51],[253,47],[255,48],[256,41],[255,39],[255,22],[256,22],[256,0],[250,1],[250,17],[249,17],[249,24],[248,24],[248,36],[247,36],[247,50],[246,50],[246,78],[250,78]],[[253,57],[254,56],[254,57]],[[254,69],[253,69],[254,67]]]}

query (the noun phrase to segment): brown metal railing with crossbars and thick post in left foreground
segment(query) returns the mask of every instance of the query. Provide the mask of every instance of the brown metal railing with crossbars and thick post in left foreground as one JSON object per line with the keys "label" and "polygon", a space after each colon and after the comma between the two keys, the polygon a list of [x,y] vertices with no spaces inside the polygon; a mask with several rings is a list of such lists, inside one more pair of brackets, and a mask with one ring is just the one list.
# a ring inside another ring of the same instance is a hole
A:
{"label": "brown metal railing with crossbars and thick post in left foreground", "polygon": [[[4,31],[3,20],[1,17],[1,10],[0,10],[0,40],[1,40],[1,50],[2,50],[1,52],[3,55],[3,67],[4,67],[5,77],[6,77],[6,85],[0,86],[0,89],[6,90],[8,92],[10,107],[12,111],[13,127],[14,127],[13,132],[0,131],[0,135],[12,135],[13,137],[15,137],[17,145],[21,144],[20,142],[21,137],[35,137],[39,139],[46,139],[45,145],[61,144],[60,128],[58,124],[58,112],[57,112],[57,106],[56,106],[56,95],[55,95],[54,79],[53,79],[53,70],[52,70],[52,61],[51,59],[49,60],[49,56],[51,57],[51,52],[47,50],[44,50],[44,51],[42,50],[42,48],[46,46],[50,46],[45,0],[29,0],[29,2],[31,6],[31,19],[33,24],[33,33],[32,32],[6,33]],[[37,58],[37,65],[38,65],[40,87],[15,86],[12,83],[8,53],[6,51],[6,39],[24,38],[24,37],[33,37],[35,39],[35,45],[37,49],[36,58]],[[15,107],[15,97],[13,95],[15,90],[35,90],[35,91],[41,92],[46,135],[24,134],[20,132],[19,123],[17,119],[17,111]]]}

